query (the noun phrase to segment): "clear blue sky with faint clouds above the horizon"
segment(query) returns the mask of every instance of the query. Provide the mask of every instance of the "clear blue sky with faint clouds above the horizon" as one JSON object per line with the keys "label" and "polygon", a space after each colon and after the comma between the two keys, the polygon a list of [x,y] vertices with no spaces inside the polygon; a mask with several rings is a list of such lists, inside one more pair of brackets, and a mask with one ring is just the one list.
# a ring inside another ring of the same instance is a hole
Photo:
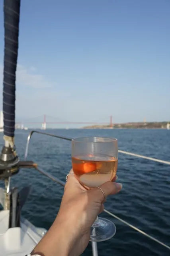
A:
{"label": "clear blue sky with faint clouds above the horizon", "polygon": [[[0,1],[0,106],[3,58]],[[21,0],[16,118],[43,114],[170,120],[170,1]]]}

